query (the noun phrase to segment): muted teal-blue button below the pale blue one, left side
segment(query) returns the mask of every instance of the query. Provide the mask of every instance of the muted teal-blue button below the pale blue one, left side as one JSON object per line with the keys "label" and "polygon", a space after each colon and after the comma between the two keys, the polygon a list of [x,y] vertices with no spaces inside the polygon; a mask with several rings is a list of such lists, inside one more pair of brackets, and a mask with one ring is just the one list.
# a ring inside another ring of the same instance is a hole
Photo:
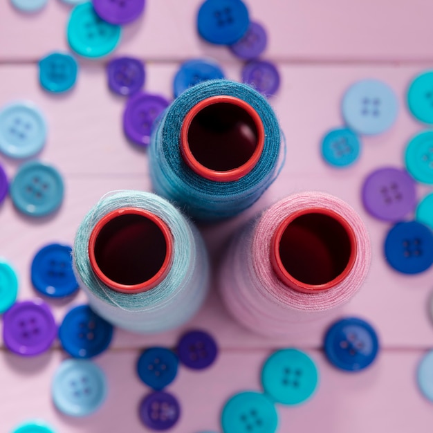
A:
{"label": "muted teal-blue button below the pale blue one, left side", "polygon": [[63,191],[59,172],[39,161],[21,165],[10,185],[15,207],[30,216],[45,216],[57,210],[63,201]]}

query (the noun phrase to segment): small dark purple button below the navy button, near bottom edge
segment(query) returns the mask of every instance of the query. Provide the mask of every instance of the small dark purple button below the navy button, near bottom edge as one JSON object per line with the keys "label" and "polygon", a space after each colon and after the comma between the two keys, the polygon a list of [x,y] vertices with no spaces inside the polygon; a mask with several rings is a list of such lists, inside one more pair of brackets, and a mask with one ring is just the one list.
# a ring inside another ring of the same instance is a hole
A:
{"label": "small dark purple button below the navy button, near bottom edge", "polygon": [[138,412],[145,427],[152,430],[168,430],[181,416],[181,407],[172,394],[157,391],[142,399]]}

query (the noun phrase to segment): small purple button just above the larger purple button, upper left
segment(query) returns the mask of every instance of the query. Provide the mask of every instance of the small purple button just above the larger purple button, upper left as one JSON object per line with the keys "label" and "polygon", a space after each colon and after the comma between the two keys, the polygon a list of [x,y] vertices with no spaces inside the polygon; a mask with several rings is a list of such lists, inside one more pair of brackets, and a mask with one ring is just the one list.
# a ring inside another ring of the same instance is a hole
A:
{"label": "small purple button just above the larger purple button, upper left", "polygon": [[118,57],[107,64],[107,75],[114,93],[129,96],[145,84],[145,65],[132,57]]}

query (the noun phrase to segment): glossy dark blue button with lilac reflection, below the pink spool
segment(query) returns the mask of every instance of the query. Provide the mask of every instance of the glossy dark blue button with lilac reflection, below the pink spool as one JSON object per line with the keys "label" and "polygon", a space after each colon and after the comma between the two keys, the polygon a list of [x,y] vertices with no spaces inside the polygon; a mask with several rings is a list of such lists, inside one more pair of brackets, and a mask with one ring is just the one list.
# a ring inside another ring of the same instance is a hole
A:
{"label": "glossy dark blue button with lilac reflection, below the pink spool", "polygon": [[335,322],[326,332],[324,351],[329,362],[346,371],[367,368],[376,359],[379,343],[370,324],[356,317]]}

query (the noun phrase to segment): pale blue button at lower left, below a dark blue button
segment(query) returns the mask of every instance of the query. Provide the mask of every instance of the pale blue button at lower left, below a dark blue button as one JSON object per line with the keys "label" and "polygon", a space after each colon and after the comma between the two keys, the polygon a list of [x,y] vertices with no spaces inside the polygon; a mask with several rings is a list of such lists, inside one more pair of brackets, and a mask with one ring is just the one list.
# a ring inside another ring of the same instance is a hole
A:
{"label": "pale blue button at lower left, below a dark blue button", "polygon": [[100,408],[107,397],[104,371],[89,360],[68,359],[55,371],[51,394],[55,407],[70,416],[86,416]]}

